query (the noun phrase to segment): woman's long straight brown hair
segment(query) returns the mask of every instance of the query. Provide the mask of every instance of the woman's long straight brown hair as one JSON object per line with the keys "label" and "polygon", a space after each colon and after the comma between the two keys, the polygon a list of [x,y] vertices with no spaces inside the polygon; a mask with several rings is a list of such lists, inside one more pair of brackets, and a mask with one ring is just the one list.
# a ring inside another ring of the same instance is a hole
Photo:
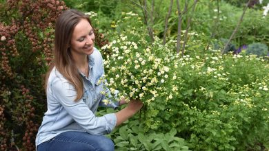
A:
{"label": "woman's long straight brown hair", "polygon": [[[88,16],[77,10],[66,10],[57,19],[54,32],[54,60],[46,73],[45,89],[48,84],[48,78],[53,67],[66,78],[77,91],[77,97],[74,101],[78,101],[83,95],[83,80],[74,64],[70,52],[70,43],[74,27],[81,21],[86,19],[90,23]],[[90,23],[90,25],[92,25]]]}

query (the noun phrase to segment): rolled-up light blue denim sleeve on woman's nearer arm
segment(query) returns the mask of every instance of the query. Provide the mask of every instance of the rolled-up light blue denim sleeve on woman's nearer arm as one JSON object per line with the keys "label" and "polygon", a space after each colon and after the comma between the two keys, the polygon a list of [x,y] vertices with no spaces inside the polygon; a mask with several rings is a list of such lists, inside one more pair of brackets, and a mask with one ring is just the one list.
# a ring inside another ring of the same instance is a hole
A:
{"label": "rolled-up light blue denim sleeve on woman's nearer arm", "polygon": [[51,87],[55,100],[63,106],[63,112],[72,117],[88,133],[106,135],[116,126],[117,117],[114,113],[96,117],[82,99],[75,102],[77,91],[66,79],[56,78]]}

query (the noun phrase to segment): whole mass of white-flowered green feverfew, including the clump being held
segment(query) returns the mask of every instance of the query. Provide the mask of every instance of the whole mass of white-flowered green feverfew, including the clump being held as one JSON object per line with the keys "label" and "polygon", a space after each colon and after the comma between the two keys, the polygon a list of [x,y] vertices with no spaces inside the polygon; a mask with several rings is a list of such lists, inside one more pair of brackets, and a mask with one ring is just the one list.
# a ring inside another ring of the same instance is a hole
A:
{"label": "whole mass of white-flowered green feverfew, including the clump being held", "polygon": [[[106,50],[104,67],[112,92],[118,89],[121,95],[146,103],[146,114],[142,114],[140,121],[141,125],[146,124],[143,130],[159,134],[175,128],[175,136],[188,141],[192,150],[268,148],[266,60],[230,53],[221,56],[212,47],[202,51],[206,49],[202,34],[190,35],[186,55],[177,56],[172,51],[175,40],[162,46],[156,38],[151,44],[145,30],[137,22],[132,25],[132,20],[139,21],[139,17],[131,13],[123,16],[123,21],[115,24],[115,31],[108,34],[114,41],[102,50]],[[148,58],[164,61],[158,64]],[[150,69],[152,73],[143,72]],[[155,85],[148,84],[155,78]],[[152,91],[157,91],[157,95]],[[113,136],[130,141],[130,137],[124,139],[118,131]]]}

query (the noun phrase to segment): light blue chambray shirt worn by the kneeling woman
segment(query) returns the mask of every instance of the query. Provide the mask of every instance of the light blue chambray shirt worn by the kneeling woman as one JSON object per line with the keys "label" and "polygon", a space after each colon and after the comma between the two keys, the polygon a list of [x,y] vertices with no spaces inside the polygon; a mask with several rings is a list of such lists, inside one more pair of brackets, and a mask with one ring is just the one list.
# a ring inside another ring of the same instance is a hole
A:
{"label": "light blue chambray shirt worn by the kneeling woman", "polygon": [[[119,102],[112,102],[110,91],[100,80],[103,71],[103,59],[100,52],[94,48],[88,56],[89,76],[81,73],[83,78],[83,97],[74,102],[77,91],[74,86],[54,67],[48,78],[46,111],[36,138],[36,146],[48,141],[61,132],[81,131],[90,135],[106,135],[116,126],[114,113],[96,117],[94,113],[98,106],[116,108]],[[108,95],[101,94],[105,91]],[[109,96],[109,97],[106,97]]]}

